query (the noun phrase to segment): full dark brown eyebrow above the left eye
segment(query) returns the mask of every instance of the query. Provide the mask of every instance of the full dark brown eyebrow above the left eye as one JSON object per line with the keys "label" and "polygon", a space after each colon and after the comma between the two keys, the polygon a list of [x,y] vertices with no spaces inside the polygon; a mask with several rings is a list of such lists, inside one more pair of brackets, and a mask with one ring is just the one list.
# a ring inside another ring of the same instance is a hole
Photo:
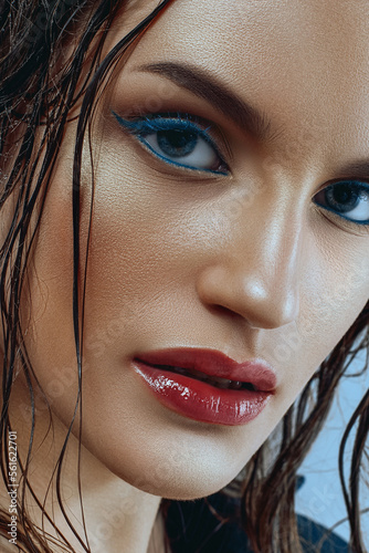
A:
{"label": "full dark brown eyebrow above the left eye", "polygon": [[165,76],[196,96],[210,102],[243,132],[249,131],[261,140],[272,137],[271,121],[266,115],[241,100],[207,71],[173,62],[149,63],[138,69]]}

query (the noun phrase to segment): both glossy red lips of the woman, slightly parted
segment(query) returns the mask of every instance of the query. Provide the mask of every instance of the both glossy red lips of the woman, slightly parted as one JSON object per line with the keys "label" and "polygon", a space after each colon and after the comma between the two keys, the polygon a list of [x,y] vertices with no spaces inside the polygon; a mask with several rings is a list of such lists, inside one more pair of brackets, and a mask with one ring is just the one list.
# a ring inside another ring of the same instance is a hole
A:
{"label": "both glossy red lips of the woman, slightly parted", "polygon": [[266,362],[238,363],[217,349],[146,352],[133,365],[162,405],[202,422],[244,425],[257,417],[276,387]]}

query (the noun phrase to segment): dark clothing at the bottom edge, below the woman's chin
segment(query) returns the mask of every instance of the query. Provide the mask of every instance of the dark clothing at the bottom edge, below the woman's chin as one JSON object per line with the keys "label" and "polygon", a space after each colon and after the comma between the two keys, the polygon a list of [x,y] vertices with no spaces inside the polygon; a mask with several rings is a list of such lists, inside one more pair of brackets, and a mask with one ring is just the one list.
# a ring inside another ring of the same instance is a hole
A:
{"label": "dark clothing at the bottom edge, below the woman's chin", "polygon": [[[232,522],[222,524],[212,514],[209,504],[222,517],[232,517]],[[172,553],[252,553],[239,522],[239,500],[223,493],[214,493],[207,500],[173,501],[167,519]],[[327,530],[305,517],[298,515],[297,520],[304,553],[315,553],[314,545],[318,544]],[[350,552],[348,544],[336,534],[327,536],[320,551]]]}

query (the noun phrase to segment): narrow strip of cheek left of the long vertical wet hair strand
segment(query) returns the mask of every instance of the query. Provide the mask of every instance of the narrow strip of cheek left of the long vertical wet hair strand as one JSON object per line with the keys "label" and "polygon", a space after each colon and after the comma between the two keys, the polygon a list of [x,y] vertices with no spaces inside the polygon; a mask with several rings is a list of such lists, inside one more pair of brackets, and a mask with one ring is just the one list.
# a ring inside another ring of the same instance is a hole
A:
{"label": "narrow strip of cheek left of the long vertical wet hair strand", "polygon": [[[65,186],[65,182],[63,182]],[[54,179],[55,189],[59,188]],[[60,192],[60,190],[59,190]],[[42,216],[22,303],[25,347],[53,409],[68,422],[77,389],[73,304],[72,206],[51,190]],[[28,300],[30,298],[30,300]],[[35,387],[38,390],[38,388]],[[39,398],[41,399],[40,394]],[[40,404],[41,405],[41,404]],[[40,407],[41,408],[41,407]]]}

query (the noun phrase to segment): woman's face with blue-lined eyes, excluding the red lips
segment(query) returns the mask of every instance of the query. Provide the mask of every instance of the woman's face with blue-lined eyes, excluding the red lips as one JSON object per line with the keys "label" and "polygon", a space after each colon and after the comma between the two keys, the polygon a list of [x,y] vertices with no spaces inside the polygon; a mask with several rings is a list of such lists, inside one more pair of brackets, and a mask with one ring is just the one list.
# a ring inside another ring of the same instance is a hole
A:
{"label": "woman's face with blue-lined eyes, excluding the red lips", "polygon": [[[156,4],[136,3],[108,48]],[[176,0],[97,104],[83,444],[138,488],[190,499],[230,482],[368,300],[368,21],[366,0]],[[74,133],[48,194],[27,334],[65,424],[77,388]],[[242,424],[164,404],[133,359],[183,347],[264,359],[274,393]]]}

